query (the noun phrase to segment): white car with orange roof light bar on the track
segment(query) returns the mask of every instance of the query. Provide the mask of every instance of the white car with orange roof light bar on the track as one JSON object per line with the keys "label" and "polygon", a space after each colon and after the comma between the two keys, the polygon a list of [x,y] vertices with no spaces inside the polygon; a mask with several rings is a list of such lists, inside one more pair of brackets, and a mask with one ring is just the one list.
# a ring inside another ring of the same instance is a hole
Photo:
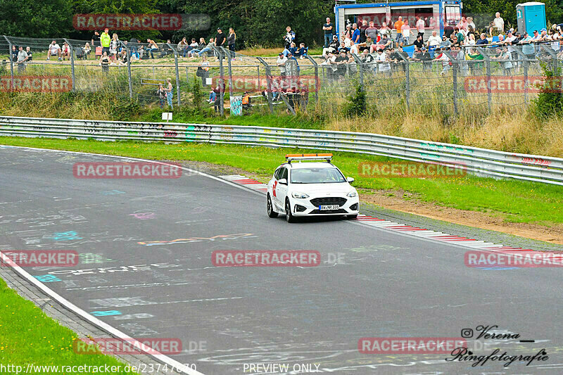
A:
{"label": "white car with orange roof light bar on the track", "polygon": [[354,179],[344,177],[331,159],[331,153],[286,155],[268,182],[268,216],[286,215],[287,222],[298,216],[358,217],[358,191],[350,185]]}

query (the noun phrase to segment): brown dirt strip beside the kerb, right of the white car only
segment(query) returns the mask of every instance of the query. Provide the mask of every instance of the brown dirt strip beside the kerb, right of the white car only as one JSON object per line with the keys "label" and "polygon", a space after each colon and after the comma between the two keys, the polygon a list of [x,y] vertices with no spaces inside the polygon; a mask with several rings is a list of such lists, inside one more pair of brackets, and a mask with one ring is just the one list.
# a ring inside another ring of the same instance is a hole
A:
{"label": "brown dirt strip beside the kerb, right of the white car only", "polygon": [[545,227],[540,224],[504,222],[502,218],[488,215],[485,212],[457,210],[456,208],[418,201],[412,196],[408,200],[399,198],[399,196],[403,196],[403,194],[397,191],[374,191],[373,193],[363,194],[360,191],[360,200],[383,208],[563,245],[562,224]]}

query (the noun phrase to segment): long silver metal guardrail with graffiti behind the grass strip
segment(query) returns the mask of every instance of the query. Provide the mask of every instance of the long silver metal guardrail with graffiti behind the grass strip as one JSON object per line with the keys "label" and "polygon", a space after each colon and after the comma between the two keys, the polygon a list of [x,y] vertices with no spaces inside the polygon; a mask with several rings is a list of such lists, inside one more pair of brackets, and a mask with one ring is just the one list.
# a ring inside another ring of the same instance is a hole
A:
{"label": "long silver metal guardrail with graffiti behind the grass strip", "polygon": [[490,177],[563,185],[563,158],[507,153],[381,134],[234,125],[118,122],[0,116],[0,136],[208,142],[346,151],[440,165]]}

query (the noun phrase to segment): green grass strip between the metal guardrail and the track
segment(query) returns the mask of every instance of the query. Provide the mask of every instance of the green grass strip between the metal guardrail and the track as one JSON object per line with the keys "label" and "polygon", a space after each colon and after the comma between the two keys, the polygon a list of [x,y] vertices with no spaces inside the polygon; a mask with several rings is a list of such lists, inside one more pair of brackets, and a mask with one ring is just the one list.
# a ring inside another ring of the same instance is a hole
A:
{"label": "green grass strip between the metal guardrail and the track", "polygon": [[[276,149],[210,144],[162,144],[134,142],[80,141],[76,139],[25,139],[0,137],[0,144],[30,146],[107,155],[122,155],[153,160],[195,160],[239,167],[267,179],[284,161],[286,153],[318,152],[303,149]],[[563,187],[517,180],[483,177],[439,179],[362,177],[358,165],[365,161],[389,161],[391,158],[353,153],[334,153],[334,163],[354,177],[354,185],[363,193],[372,189],[409,193],[419,201],[444,207],[486,212],[505,222],[536,223],[544,226],[563,223]]]}

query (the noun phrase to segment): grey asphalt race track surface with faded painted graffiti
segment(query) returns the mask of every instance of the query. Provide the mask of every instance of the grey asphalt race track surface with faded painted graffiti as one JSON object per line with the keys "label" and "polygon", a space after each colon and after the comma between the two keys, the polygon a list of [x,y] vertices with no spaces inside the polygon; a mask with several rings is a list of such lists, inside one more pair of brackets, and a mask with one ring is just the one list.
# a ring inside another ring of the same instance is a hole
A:
{"label": "grey asphalt race track surface with faded painted graffiti", "polygon": [[[561,268],[469,268],[455,244],[350,220],[288,224],[267,217],[260,193],[199,174],[77,179],[80,161],[122,160],[0,146],[0,250],[76,250],[75,267],[26,270],[129,336],[179,338],[170,357],[203,374],[268,363],[289,364],[275,374],[563,372]],[[322,263],[214,267],[214,250],[318,250]],[[549,358],[472,367],[358,351],[363,337],[459,338],[479,325],[520,336],[469,338],[476,355]]]}

